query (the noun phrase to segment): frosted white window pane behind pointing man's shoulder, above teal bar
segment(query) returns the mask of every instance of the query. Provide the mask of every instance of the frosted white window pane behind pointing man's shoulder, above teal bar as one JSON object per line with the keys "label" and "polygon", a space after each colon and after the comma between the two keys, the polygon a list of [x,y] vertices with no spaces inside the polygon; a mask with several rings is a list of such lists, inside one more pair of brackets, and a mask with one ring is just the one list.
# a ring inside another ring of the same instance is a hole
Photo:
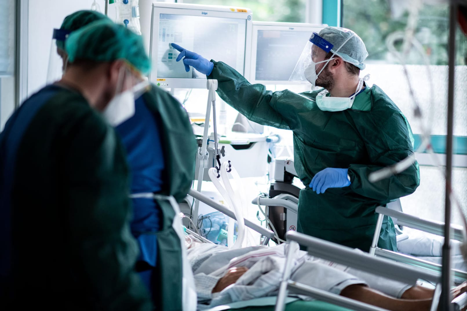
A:
{"label": "frosted white window pane behind pointing man's shoulder, above teal bar", "polygon": [[[409,81],[421,108],[423,124],[432,135],[447,134],[447,66],[407,65]],[[432,75],[433,87],[427,78],[427,70]],[[410,96],[407,77],[403,66],[398,64],[371,63],[361,72],[361,76],[371,75],[368,84],[379,86],[399,107],[409,121],[412,131],[421,134],[421,122],[415,118],[415,104]],[[426,78],[420,78],[426,77]],[[467,136],[467,66],[456,66],[454,88],[454,135]]]}

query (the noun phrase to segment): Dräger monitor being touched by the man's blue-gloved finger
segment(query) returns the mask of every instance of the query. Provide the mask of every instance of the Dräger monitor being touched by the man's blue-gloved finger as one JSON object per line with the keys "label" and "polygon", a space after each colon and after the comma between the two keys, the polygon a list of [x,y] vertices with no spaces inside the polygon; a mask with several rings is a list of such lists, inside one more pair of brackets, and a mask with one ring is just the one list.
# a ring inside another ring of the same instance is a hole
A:
{"label": "Dr\u00e4ger monitor being touched by the man's blue-gloved finger", "polygon": [[170,43],[225,62],[249,74],[252,13],[249,9],[155,2],[152,7],[149,80],[167,88],[206,88],[206,76],[190,66]]}

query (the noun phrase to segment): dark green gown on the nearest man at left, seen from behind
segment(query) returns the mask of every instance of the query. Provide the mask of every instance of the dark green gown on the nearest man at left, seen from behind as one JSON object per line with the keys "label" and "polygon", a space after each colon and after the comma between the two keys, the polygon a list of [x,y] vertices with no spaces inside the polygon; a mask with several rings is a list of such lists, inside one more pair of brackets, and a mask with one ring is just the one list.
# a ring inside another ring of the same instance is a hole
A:
{"label": "dark green gown on the nearest man at left, seen from behind", "polygon": [[11,283],[2,304],[11,310],[152,310],[134,271],[138,249],[128,226],[123,148],[84,97],[57,85],[28,99],[20,116],[44,90],[51,95],[27,124],[15,155]]}

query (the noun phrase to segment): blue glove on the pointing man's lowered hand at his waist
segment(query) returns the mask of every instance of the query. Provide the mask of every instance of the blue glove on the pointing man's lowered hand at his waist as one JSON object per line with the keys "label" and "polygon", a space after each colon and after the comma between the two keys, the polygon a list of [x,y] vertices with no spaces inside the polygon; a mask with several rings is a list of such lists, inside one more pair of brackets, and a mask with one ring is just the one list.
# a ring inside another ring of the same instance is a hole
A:
{"label": "blue glove on the pointing man's lowered hand at his waist", "polygon": [[316,191],[317,194],[324,194],[327,188],[350,186],[347,171],[347,168],[327,167],[313,177],[310,188],[313,188],[313,191]]}

